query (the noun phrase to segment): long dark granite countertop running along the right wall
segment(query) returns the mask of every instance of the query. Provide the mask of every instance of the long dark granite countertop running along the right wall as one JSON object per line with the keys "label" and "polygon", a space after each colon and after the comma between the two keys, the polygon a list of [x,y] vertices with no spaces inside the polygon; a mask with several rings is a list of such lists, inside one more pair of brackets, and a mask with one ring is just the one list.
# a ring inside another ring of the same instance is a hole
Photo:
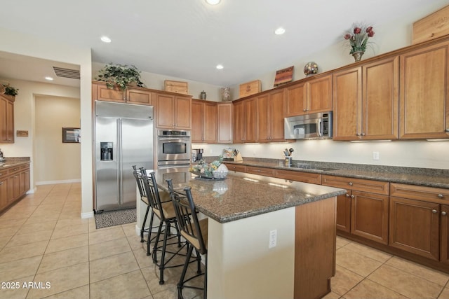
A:
{"label": "long dark granite countertop running along the right wall", "polygon": [[[396,167],[382,165],[359,165],[335,162],[314,162],[293,160],[287,167],[283,160],[243,158],[241,162],[231,164],[288,169],[297,172],[314,172],[333,176],[346,176],[356,179],[373,179],[391,183],[406,183],[417,186],[449,188],[449,169],[430,169],[417,167]],[[320,169],[314,169],[321,168]]]}

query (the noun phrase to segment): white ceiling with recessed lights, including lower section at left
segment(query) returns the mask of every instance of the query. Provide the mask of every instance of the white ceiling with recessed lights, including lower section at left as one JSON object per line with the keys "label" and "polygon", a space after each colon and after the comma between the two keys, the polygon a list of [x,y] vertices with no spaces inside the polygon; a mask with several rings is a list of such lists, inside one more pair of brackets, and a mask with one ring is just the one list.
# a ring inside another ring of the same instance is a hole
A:
{"label": "white ceiling with recessed lights, including lower section at left", "polygon": [[[0,27],[91,48],[93,62],[232,86],[341,42],[353,22],[380,26],[427,11],[432,1],[222,0],[210,6],[205,0],[14,0],[1,5]],[[286,33],[275,35],[278,27]],[[103,35],[112,42],[100,41]],[[55,76],[53,66],[79,69],[0,52],[0,78],[43,82]],[[72,78],[53,83],[79,85]]]}

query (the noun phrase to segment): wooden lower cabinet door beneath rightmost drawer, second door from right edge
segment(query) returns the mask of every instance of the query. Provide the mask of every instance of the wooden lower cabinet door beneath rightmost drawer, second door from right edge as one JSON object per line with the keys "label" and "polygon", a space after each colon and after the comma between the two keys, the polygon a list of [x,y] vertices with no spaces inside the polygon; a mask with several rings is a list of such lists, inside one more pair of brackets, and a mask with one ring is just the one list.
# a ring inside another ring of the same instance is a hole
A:
{"label": "wooden lower cabinet door beneath rightmost drawer, second door from right edge", "polygon": [[389,245],[439,260],[440,204],[390,197]]}

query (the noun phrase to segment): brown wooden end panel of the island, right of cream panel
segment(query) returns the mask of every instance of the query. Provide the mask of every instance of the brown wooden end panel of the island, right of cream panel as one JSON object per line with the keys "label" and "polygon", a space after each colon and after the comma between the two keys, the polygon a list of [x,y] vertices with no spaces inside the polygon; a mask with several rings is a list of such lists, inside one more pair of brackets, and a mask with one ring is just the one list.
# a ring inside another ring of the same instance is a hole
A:
{"label": "brown wooden end panel of the island, right of cream panel", "polygon": [[335,275],[336,197],[295,209],[295,299],[322,298]]}

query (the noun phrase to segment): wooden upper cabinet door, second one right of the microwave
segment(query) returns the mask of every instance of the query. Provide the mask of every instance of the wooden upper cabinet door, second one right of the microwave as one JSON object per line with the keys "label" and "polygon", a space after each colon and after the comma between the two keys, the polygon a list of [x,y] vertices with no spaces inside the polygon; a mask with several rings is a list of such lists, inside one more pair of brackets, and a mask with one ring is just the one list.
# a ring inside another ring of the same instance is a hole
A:
{"label": "wooden upper cabinet door, second one right of the microwave", "polygon": [[362,76],[362,139],[398,139],[398,56],[363,65]]}

